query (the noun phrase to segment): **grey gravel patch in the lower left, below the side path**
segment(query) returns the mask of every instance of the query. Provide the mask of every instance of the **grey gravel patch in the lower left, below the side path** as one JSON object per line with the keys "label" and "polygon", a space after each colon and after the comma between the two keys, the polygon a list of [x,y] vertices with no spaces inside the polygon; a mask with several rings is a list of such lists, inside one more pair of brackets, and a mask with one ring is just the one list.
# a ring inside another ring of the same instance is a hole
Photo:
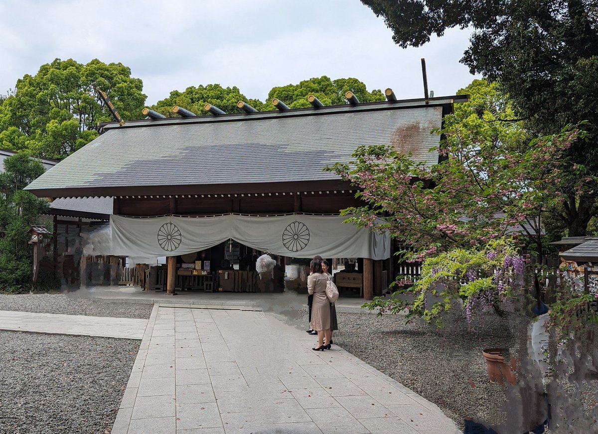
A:
{"label": "grey gravel patch in the lower left, below the side path", "polygon": [[109,433],[139,343],[0,331],[0,433]]}

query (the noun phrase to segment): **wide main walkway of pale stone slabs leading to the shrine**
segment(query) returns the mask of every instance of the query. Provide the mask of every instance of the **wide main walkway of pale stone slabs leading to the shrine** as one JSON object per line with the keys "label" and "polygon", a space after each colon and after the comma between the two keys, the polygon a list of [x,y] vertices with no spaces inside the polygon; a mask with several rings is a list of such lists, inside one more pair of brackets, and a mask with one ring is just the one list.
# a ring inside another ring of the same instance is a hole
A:
{"label": "wide main walkway of pale stone slabs leading to the shrine", "polygon": [[155,305],[112,434],[458,432],[392,378],[314,344],[271,313]]}

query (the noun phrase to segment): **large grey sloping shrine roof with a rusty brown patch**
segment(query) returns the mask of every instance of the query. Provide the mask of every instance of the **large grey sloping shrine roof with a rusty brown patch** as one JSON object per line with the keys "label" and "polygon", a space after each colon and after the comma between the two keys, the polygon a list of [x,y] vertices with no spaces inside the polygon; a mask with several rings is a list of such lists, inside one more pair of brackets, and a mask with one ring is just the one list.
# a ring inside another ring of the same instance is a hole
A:
{"label": "large grey sloping shrine roof with a rusty brown patch", "polygon": [[300,191],[302,185],[340,190],[349,184],[322,169],[350,161],[359,145],[392,144],[426,164],[437,163],[438,153],[429,149],[439,137],[431,130],[441,127],[454,102],[467,99],[112,123],[27,190],[39,197]]}

